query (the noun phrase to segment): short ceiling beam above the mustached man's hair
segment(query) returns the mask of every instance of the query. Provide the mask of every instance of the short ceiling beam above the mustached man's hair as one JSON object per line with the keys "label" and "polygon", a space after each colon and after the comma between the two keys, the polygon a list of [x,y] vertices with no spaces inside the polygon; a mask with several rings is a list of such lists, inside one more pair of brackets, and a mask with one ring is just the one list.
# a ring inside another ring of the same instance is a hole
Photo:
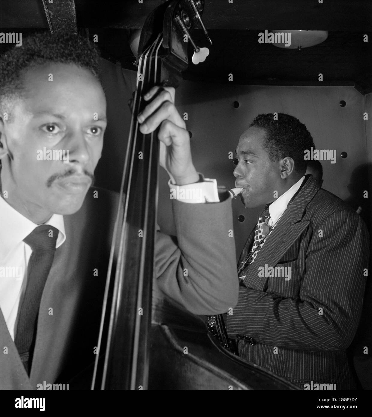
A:
{"label": "short ceiling beam above the mustached man's hair", "polygon": [[42,0],[51,33],[78,33],[74,0]]}

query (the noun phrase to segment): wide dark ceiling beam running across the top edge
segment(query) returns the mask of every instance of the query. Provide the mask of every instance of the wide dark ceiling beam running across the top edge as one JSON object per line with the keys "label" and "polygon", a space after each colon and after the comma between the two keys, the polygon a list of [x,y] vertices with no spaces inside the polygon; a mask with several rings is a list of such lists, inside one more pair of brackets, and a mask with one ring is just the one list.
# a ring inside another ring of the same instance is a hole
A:
{"label": "wide dark ceiling beam running across the top edge", "polygon": [[[48,28],[42,1],[0,1],[0,28]],[[50,11],[71,12],[72,0],[44,1]],[[78,27],[141,28],[163,1],[75,0]],[[205,0],[205,5],[208,29],[372,31],[371,0]]]}

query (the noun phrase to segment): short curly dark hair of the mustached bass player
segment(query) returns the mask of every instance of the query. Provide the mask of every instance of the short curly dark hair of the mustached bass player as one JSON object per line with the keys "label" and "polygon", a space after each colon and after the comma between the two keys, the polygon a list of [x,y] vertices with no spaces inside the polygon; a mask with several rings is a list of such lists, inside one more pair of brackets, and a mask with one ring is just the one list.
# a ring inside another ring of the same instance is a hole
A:
{"label": "short curly dark hair of the mustached bass player", "polygon": [[60,32],[33,34],[0,57],[1,111],[8,100],[22,96],[25,70],[45,63],[75,64],[87,68],[100,80],[98,48],[88,39]]}

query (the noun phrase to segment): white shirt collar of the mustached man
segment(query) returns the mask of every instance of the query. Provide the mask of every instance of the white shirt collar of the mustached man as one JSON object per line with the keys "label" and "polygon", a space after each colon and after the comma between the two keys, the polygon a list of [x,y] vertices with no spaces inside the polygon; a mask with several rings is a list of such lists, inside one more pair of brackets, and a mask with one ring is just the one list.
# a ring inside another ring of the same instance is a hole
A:
{"label": "white shirt collar of the mustached man", "polygon": [[[4,198],[0,197],[0,259],[5,259],[11,250],[15,248],[26,236],[28,236],[38,224],[27,219],[15,208],[10,206]],[[44,224],[58,229],[56,248],[66,240],[65,224],[62,214],[53,216]]]}

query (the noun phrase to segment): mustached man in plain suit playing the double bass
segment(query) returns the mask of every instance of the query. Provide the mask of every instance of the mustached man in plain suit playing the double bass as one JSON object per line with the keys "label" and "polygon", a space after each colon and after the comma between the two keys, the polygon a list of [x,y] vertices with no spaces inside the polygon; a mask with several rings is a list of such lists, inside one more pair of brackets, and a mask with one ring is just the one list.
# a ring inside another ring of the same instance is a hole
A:
{"label": "mustached man in plain suit playing the double bass", "polygon": [[[95,360],[117,196],[91,187],[107,125],[96,49],[75,35],[33,35],[0,70],[0,389],[36,389]],[[216,202],[173,201],[177,236],[157,232],[156,281],[195,314],[222,313],[238,291],[229,196],[196,172],[174,90],[144,99],[140,130],[160,126],[174,186],[198,183]]]}

